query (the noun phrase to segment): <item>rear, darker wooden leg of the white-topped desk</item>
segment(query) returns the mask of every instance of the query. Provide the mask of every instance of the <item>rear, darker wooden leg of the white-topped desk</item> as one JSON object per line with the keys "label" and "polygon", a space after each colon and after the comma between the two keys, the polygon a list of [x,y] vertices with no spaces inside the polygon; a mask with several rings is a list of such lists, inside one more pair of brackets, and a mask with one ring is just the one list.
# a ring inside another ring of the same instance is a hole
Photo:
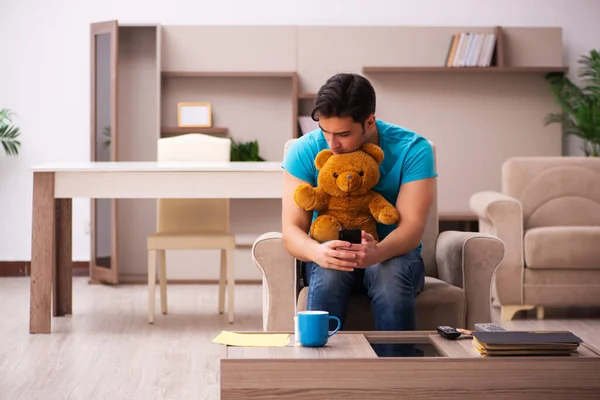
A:
{"label": "rear, darker wooden leg of the white-topped desk", "polygon": [[71,240],[72,200],[56,199],[56,271],[54,316],[72,314],[73,258]]}

